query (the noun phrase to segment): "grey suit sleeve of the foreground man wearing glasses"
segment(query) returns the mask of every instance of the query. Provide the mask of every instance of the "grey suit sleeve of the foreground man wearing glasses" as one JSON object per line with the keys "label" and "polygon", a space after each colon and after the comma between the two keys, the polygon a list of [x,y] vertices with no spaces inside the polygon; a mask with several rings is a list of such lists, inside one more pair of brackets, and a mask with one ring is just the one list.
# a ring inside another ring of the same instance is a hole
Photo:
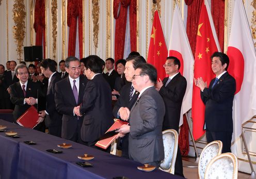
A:
{"label": "grey suit sleeve of the foreground man wearing glasses", "polygon": [[[137,104],[138,105],[138,104]],[[152,96],[145,95],[139,101],[140,125],[130,126],[130,135],[132,137],[154,131],[157,126],[157,105]]]}

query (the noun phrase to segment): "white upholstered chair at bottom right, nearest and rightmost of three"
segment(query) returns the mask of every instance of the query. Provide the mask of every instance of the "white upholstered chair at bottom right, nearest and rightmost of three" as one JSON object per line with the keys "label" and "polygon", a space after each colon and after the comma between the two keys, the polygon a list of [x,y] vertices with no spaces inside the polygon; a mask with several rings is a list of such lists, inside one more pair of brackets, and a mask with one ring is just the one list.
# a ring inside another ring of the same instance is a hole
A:
{"label": "white upholstered chair at bottom right, nearest and rightmost of three", "polygon": [[232,153],[223,153],[210,161],[206,167],[204,178],[236,179],[237,173],[237,157]]}

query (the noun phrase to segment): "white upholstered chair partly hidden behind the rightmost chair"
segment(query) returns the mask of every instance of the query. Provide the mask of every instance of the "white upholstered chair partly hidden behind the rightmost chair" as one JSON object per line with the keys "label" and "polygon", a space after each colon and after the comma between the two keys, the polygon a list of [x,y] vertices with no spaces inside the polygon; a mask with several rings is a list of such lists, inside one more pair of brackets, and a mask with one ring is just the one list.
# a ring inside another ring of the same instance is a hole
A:
{"label": "white upholstered chair partly hidden behind the rightmost chair", "polygon": [[220,155],[222,152],[222,142],[220,140],[215,140],[208,143],[203,149],[199,161],[198,161],[198,174],[199,178],[204,178],[204,173],[209,162],[216,156]]}

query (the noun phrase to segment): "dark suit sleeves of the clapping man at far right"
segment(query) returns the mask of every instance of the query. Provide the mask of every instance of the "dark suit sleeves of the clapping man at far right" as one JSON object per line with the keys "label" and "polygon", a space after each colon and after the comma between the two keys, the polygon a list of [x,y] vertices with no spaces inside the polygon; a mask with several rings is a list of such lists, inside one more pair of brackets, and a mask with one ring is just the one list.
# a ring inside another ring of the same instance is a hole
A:
{"label": "dark suit sleeves of the clapping man at far right", "polygon": [[207,100],[214,100],[217,103],[221,103],[230,98],[230,96],[235,93],[235,79],[230,77],[226,78],[225,81],[220,84],[221,86],[216,87],[216,89],[204,88],[203,91],[200,91],[201,99],[205,104]]}

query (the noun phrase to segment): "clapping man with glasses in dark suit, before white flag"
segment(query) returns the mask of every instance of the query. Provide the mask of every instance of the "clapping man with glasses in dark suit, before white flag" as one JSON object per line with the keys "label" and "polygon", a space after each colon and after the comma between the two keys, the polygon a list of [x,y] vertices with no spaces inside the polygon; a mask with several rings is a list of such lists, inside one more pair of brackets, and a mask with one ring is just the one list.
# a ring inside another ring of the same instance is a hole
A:
{"label": "clapping man with glasses in dark suit, before white flag", "polygon": [[[165,102],[163,131],[166,129],[175,129],[179,133],[181,105],[187,87],[186,79],[179,72],[180,67],[181,63],[178,58],[172,56],[167,57],[164,68],[169,77],[164,78],[163,82],[159,78],[159,82],[156,84],[156,89],[159,91],[159,94],[163,97]],[[174,174],[184,177],[182,157],[179,147],[175,161]]]}

